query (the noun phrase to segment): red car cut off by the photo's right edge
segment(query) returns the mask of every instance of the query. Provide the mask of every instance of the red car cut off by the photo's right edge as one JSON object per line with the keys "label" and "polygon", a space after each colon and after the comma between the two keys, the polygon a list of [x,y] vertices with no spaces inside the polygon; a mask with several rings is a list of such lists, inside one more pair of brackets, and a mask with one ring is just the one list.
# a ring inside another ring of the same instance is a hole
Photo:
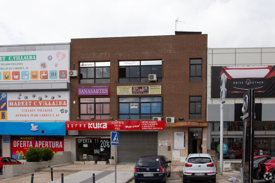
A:
{"label": "red car cut off by the photo's right edge", "polygon": [[256,176],[260,179],[269,180],[270,183],[275,182],[275,157],[267,157],[258,163],[258,171]]}

